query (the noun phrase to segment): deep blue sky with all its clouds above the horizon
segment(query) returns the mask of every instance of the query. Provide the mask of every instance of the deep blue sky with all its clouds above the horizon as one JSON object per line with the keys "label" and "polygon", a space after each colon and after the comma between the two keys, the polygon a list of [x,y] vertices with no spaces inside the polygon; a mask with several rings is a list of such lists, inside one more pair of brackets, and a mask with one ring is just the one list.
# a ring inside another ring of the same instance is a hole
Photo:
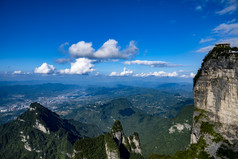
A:
{"label": "deep blue sky with all its clouds above the horizon", "polygon": [[1,0],[0,80],[192,79],[215,43],[238,46],[237,0]]}

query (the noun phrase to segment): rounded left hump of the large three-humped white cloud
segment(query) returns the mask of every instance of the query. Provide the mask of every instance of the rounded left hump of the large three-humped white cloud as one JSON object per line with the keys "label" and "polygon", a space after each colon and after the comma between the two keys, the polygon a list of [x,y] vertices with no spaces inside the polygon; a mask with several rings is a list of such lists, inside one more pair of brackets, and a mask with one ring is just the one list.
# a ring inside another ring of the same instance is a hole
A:
{"label": "rounded left hump of the large three-humped white cloud", "polygon": [[69,47],[69,53],[75,57],[87,57],[93,56],[95,50],[92,48],[92,43],[87,43],[85,41],[80,41],[77,44],[73,44]]}

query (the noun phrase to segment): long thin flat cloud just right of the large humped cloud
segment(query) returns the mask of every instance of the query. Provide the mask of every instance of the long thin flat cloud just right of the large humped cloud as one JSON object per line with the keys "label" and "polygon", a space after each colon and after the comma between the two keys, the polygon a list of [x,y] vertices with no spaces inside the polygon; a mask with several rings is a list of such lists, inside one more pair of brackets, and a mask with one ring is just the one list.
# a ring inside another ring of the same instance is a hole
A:
{"label": "long thin flat cloud just right of the large humped cloud", "polygon": [[182,65],[171,64],[164,61],[147,61],[147,60],[134,60],[134,61],[125,61],[125,65],[145,65],[150,67],[179,67]]}

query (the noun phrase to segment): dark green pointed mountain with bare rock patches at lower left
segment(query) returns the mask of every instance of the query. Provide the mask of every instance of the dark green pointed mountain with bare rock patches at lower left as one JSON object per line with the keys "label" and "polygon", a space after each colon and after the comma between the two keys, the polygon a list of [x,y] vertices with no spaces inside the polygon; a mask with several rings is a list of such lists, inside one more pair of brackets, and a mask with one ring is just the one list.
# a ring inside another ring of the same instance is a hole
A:
{"label": "dark green pointed mountain with bare rock patches at lower left", "polygon": [[73,143],[101,133],[93,125],[61,119],[38,103],[0,126],[0,158],[69,158]]}

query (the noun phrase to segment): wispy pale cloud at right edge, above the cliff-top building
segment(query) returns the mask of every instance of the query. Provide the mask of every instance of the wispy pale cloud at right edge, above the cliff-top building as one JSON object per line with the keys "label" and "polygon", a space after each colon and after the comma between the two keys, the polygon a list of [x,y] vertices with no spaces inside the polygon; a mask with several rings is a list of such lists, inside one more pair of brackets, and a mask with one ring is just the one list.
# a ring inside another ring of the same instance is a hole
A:
{"label": "wispy pale cloud at right edge, above the cliff-top building", "polygon": [[213,29],[214,33],[238,35],[238,23],[222,23]]}

